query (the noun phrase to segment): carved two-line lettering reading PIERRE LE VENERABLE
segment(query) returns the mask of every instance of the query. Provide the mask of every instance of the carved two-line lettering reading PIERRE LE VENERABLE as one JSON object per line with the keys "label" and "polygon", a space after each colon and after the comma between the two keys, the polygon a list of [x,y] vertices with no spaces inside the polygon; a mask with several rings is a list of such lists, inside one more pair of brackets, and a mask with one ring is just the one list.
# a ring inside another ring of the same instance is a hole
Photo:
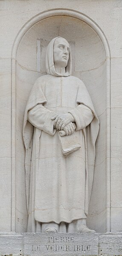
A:
{"label": "carved two-line lettering reading PIERRE LE VENERABLE", "polygon": [[[90,251],[91,245],[77,244],[74,241],[74,237],[63,237],[63,236],[49,236],[47,237],[47,244],[44,244],[44,249],[46,252],[88,252]],[[41,245],[32,245],[32,252],[41,251]]]}

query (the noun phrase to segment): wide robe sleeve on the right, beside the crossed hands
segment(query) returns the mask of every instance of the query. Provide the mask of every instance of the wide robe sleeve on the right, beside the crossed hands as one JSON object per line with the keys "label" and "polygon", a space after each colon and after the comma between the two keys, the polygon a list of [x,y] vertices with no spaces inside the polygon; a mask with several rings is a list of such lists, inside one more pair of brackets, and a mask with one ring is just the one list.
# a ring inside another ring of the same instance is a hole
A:
{"label": "wide robe sleeve on the right, beside the crossed hands", "polygon": [[93,112],[84,104],[78,105],[76,109],[69,111],[76,122],[76,130],[84,129],[87,127],[93,120]]}

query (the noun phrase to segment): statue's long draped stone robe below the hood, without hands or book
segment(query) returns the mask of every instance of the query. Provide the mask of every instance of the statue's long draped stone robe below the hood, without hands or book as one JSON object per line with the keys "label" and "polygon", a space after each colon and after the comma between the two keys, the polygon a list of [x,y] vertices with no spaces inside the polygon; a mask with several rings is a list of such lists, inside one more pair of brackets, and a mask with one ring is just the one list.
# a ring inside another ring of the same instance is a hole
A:
{"label": "statue's long draped stone robe below the hood, without hands or book", "polygon": [[[64,156],[51,118],[68,112],[81,148]],[[80,79],[47,74],[36,80],[23,123],[29,227],[36,221],[60,224],[87,218],[98,132],[99,120]]]}

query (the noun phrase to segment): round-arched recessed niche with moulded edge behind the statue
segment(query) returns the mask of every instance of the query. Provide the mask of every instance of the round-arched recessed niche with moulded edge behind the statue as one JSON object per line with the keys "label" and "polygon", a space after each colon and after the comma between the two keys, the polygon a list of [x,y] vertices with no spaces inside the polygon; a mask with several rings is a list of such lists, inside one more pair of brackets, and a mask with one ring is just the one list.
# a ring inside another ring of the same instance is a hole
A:
{"label": "round-arched recessed niche with moulded edge behind the statue", "polygon": [[37,15],[21,29],[13,47],[12,122],[16,129],[12,132],[12,231],[26,232],[27,224],[23,115],[32,85],[38,77],[46,74],[44,62],[46,47],[56,36],[64,37],[70,42],[73,75],[86,85],[99,117],[100,130],[96,142],[95,173],[87,225],[97,232],[106,232],[109,231],[109,224],[106,223],[110,222],[109,97],[107,96],[109,95],[109,50],[105,37],[96,24],[85,15],[69,10],[52,10]]}

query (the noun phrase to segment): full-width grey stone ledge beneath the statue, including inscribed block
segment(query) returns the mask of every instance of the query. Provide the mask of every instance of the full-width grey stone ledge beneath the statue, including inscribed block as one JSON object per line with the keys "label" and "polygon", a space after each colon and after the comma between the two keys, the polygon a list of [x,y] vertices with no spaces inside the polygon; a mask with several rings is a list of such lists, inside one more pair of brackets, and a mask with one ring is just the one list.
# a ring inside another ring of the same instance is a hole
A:
{"label": "full-width grey stone ledge beneath the statue, including inscribed block", "polygon": [[122,256],[122,233],[0,233],[0,256]]}

